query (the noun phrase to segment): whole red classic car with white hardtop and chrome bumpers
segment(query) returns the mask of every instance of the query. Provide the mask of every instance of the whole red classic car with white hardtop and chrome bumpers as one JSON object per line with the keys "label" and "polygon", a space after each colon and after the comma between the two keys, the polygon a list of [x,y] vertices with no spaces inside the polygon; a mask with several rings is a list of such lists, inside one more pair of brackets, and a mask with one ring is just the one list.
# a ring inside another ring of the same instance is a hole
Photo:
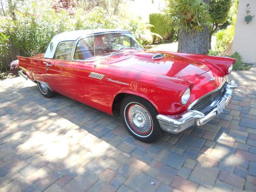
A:
{"label": "whole red classic car with white hardtop and chrome bumpers", "polygon": [[20,76],[47,98],[60,93],[108,114],[154,142],[215,118],[236,84],[228,57],[145,51],[129,31],[82,30],[56,35],[45,54],[19,59]]}

